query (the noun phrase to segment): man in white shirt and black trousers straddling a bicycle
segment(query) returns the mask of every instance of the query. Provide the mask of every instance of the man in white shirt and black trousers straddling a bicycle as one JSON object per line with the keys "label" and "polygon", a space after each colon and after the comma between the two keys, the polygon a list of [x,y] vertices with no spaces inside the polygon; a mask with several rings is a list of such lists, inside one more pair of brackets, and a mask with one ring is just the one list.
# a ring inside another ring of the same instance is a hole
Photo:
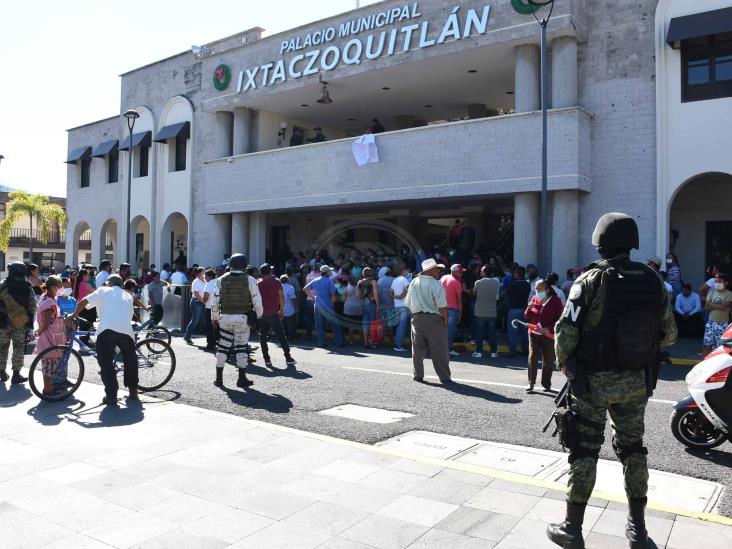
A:
{"label": "man in white shirt and black trousers straddling a bicycle", "polygon": [[137,354],[132,332],[133,298],[122,289],[122,277],[110,275],[107,285],[97,288],[82,299],[70,316],[77,318],[84,309],[97,309],[99,325],[97,326],[97,361],[102,372],[102,383],[106,396],[102,401],[108,406],[117,405],[117,372],[114,368],[114,356],[117,349],[122,353],[125,364],[124,384],[130,392],[130,400],[138,400],[137,396]]}

